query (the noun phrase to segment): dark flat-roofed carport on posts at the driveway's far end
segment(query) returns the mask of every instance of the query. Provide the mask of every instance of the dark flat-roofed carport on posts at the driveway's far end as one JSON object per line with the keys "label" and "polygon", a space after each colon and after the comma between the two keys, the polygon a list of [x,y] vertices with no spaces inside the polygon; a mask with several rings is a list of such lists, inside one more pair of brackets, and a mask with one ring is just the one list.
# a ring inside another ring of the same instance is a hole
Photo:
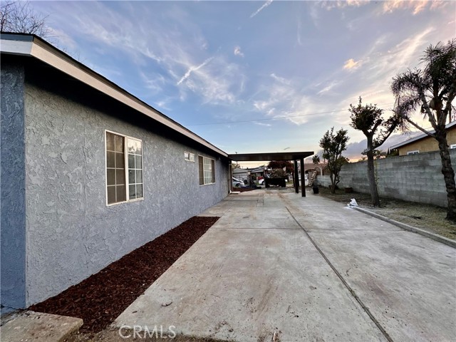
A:
{"label": "dark flat-roofed carport on posts at the driveway's far end", "polygon": [[[270,160],[293,160],[294,162],[294,190],[299,193],[298,160],[301,166],[301,194],[306,197],[306,179],[304,175],[304,158],[314,155],[314,152],[271,152],[271,153],[241,153],[228,155],[236,162],[265,162]],[[230,177],[231,179],[231,177]],[[230,182],[231,184],[231,182]]]}

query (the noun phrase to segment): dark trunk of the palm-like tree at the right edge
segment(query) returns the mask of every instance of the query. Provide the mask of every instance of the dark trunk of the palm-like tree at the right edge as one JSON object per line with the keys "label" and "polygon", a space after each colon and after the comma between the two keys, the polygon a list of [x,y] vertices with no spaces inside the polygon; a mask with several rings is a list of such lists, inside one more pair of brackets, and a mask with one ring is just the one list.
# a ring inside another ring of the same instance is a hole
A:
{"label": "dark trunk of the palm-like tree at the right edge", "polygon": [[442,160],[442,174],[447,188],[447,219],[456,222],[456,185],[455,171],[451,165],[450,150],[447,145],[447,133],[435,131],[435,138],[439,144],[440,159]]}

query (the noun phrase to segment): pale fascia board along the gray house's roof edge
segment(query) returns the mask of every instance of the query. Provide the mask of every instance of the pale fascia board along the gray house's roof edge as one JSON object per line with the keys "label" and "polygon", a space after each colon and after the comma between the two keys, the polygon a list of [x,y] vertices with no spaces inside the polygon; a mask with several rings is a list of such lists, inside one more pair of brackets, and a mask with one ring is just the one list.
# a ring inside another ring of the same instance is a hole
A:
{"label": "pale fascia board along the gray house's roof edge", "polygon": [[101,76],[99,73],[96,73],[83,65],[83,63],[76,61],[76,59],[68,56],[63,51],[58,50],[58,48],[52,46],[38,36],[26,33],[1,33],[0,51],[2,54],[5,53],[36,58],[38,61],[66,73],[68,76],[85,83],[95,90],[99,90],[101,93],[110,96],[110,98],[118,100],[120,103],[124,103],[134,110],[138,110],[138,112],[143,115],[147,115],[175,132],[185,135],[187,138],[208,147],[219,155],[228,157],[226,152],[199,137],[175,120],[168,118],[166,115],[160,113],[159,110],[147,105],[147,103],[143,102],[135,95],[128,93],[128,91],[109,81],[108,78]]}

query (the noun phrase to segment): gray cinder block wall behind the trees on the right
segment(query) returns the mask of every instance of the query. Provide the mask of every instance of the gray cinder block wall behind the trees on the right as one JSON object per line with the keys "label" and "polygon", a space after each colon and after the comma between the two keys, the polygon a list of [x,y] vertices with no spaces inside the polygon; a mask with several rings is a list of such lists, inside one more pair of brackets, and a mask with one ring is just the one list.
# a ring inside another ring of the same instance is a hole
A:
{"label": "gray cinder block wall behind the trees on the right", "polygon": [[[450,150],[456,160],[456,150]],[[453,168],[456,167],[453,162]],[[375,175],[380,196],[411,202],[447,206],[447,192],[442,175],[439,152],[404,155],[375,160]],[[353,187],[357,192],[369,192],[367,162],[343,165],[339,187]],[[318,184],[331,184],[329,176],[318,176]]]}

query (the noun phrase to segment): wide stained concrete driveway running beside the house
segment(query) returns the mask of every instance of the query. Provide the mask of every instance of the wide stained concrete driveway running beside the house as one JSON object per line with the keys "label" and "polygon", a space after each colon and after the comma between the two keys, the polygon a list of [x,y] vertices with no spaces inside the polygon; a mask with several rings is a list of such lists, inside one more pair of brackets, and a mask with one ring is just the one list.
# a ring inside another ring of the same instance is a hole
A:
{"label": "wide stained concrete driveway running beside the house", "polygon": [[452,247],[289,190],[230,195],[202,215],[221,218],[115,326],[255,342],[456,341]]}

